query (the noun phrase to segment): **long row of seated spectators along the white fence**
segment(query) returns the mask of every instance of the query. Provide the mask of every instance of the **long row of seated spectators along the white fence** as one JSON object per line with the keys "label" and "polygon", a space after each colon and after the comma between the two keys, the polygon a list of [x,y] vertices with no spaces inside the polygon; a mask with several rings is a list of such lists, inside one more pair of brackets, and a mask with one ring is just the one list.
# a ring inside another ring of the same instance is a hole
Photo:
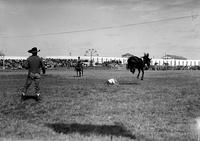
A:
{"label": "long row of seated spectators along the white fence", "polygon": [[[24,59],[0,59],[0,69],[24,69],[24,64],[26,60]],[[76,65],[77,59],[44,59],[45,66],[47,69],[54,68],[73,68]],[[103,63],[90,62],[89,60],[82,60],[85,67],[98,66],[106,68],[118,68],[122,66],[120,60],[110,60],[104,61]],[[200,66],[169,66],[169,65],[151,65],[150,70],[200,70]]]}

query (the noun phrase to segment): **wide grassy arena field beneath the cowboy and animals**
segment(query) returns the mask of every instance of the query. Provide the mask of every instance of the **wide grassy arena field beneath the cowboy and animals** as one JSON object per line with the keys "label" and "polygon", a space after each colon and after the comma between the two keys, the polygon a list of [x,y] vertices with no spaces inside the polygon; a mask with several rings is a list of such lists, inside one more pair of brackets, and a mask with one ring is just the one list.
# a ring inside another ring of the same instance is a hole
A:
{"label": "wide grassy arena field beneath the cowboy and animals", "polygon": [[20,100],[26,73],[0,72],[0,140],[197,141],[200,71],[49,70],[40,102]]}

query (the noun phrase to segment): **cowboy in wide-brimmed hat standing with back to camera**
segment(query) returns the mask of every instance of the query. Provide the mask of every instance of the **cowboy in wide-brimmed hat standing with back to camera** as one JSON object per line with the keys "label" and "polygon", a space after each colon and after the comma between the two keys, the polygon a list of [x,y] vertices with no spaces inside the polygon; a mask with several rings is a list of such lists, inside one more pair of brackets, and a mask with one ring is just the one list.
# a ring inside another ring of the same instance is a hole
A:
{"label": "cowboy in wide-brimmed hat standing with back to camera", "polygon": [[24,85],[23,91],[22,91],[22,98],[26,95],[28,88],[30,87],[31,83],[34,81],[35,83],[35,94],[36,94],[36,100],[39,100],[40,96],[40,69],[42,69],[43,74],[45,74],[45,65],[43,63],[42,58],[40,58],[37,53],[40,50],[38,50],[36,47],[33,47],[31,50],[28,51],[28,53],[32,53],[30,57],[27,59],[27,63],[25,64],[25,68],[28,69],[28,76],[26,79],[26,83]]}

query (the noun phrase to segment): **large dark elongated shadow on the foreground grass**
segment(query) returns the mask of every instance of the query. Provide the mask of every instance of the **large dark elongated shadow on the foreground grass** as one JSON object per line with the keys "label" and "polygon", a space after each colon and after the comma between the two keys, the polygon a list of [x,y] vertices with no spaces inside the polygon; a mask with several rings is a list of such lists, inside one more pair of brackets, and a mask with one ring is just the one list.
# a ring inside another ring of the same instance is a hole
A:
{"label": "large dark elongated shadow on the foreground grass", "polygon": [[130,139],[136,139],[135,135],[132,135],[130,131],[119,125],[91,125],[91,124],[64,124],[64,123],[53,123],[46,124],[47,127],[52,128],[57,133],[71,134],[79,133],[81,135],[110,135],[110,136],[121,136]]}

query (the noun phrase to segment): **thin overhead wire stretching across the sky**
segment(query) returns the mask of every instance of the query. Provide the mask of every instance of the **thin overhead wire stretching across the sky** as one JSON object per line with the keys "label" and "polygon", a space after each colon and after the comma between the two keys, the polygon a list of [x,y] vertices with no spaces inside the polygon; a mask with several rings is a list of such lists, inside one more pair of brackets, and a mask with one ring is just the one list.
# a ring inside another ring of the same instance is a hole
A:
{"label": "thin overhead wire stretching across the sky", "polygon": [[97,28],[88,28],[88,29],[80,29],[80,30],[72,30],[72,31],[64,31],[64,32],[55,32],[55,33],[41,33],[41,34],[33,34],[33,35],[0,36],[0,38],[28,38],[28,37],[72,34],[72,33],[79,33],[79,32],[91,32],[91,31],[97,31],[97,30],[109,30],[109,29],[126,28],[126,27],[145,25],[145,24],[152,24],[152,23],[159,23],[159,22],[175,21],[175,20],[193,18],[193,17],[198,17],[198,16],[199,15],[188,15],[188,16],[180,16],[180,17],[159,19],[159,20],[146,21],[146,22],[140,22],[140,23],[124,24],[124,25],[118,25],[118,26],[104,26],[104,27],[97,27]]}

